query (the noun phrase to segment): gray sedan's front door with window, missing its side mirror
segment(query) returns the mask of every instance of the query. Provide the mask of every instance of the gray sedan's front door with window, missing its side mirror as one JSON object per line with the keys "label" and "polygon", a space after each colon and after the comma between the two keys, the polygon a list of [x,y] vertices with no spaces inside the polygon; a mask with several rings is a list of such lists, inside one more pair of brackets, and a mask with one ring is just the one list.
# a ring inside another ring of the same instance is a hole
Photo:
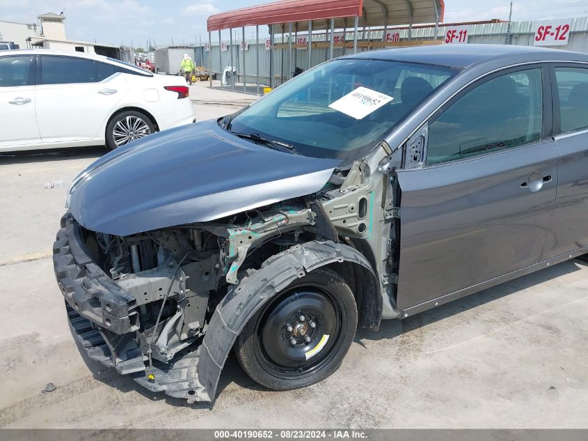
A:
{"label": "gray sedan's front door with window, missing its side mirror", "polygon": [[397,171],[399,309],[541,258],[559,161],[548,77],[539,65],[488,75],[408,141]]}

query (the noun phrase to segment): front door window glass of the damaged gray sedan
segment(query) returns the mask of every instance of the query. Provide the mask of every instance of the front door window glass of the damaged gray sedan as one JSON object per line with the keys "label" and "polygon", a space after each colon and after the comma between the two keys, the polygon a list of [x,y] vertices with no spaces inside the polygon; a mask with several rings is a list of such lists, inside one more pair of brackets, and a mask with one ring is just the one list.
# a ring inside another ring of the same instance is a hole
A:
{"label": "front door window glass of the damaged gray sedan", "polygon": [[429,125],[427,165],[537,142],[542,127],[541,69],[501,75],[473,88]]}

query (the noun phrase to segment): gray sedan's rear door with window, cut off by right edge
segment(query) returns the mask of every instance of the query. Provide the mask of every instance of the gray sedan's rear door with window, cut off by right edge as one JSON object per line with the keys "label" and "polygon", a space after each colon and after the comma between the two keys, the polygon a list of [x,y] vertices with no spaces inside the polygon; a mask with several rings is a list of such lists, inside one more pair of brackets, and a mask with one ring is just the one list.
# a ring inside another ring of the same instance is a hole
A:
{"label": "gray sedan's rear door with window, cut off by right edge", "polygon": [[551,70],[559,163],[557,199],[542,259],[588,246],[588,66]]}

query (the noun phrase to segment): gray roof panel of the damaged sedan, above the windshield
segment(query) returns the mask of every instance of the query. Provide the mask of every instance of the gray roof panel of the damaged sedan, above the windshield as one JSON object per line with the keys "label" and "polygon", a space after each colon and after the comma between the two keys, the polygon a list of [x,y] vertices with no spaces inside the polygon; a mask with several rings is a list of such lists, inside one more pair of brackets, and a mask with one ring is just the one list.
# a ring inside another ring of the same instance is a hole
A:
{"label": "gray roof panel of the damaged sedan, above the windshield", "polygon": [[349,55],[345,58],[379,59],[401,61],[406,63],[425,63],[445,65],[454,68],[467,68],[470,65],[497,59],[501,56],[516,56],[517,54],[533,55],[538,61],[557,60],[566,58],[570,61],[587,61],[588,54],[569,52],[562,49],[548,49],[546,47],[516,46],[516,45],[422,45],[411,47],[397,47],[379,49],[370,52]]}

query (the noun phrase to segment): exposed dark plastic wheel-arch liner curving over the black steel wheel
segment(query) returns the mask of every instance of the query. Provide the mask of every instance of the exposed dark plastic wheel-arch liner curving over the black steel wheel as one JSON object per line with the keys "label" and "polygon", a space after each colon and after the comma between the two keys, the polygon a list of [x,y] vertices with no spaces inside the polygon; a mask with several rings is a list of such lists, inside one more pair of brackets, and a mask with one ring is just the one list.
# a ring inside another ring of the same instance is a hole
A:
{"label": "exposed dark plastic wheel-arch liner curving over the black steel wheel", "polygon": [[[230,288],[223,301],[218,304],[209,323],[200,347],[198,381],[202,392],[193,401],[214,401],[218,378],[237,335],[248,320],[274,295],[283,291],[296,278],[307,272],[332,263],[359,265],[370,279],[373,288],[371,302],[379,299],[381,315],[382,300],[376,276],[370,263],[356,249],[335,242],[307,242],[295,245],[285,252],[265,261],[260,270],[245,277],[237,286]],[[365,297],[365,293],[363,293]],[[365,304],[365,303],[364,303]]]}

